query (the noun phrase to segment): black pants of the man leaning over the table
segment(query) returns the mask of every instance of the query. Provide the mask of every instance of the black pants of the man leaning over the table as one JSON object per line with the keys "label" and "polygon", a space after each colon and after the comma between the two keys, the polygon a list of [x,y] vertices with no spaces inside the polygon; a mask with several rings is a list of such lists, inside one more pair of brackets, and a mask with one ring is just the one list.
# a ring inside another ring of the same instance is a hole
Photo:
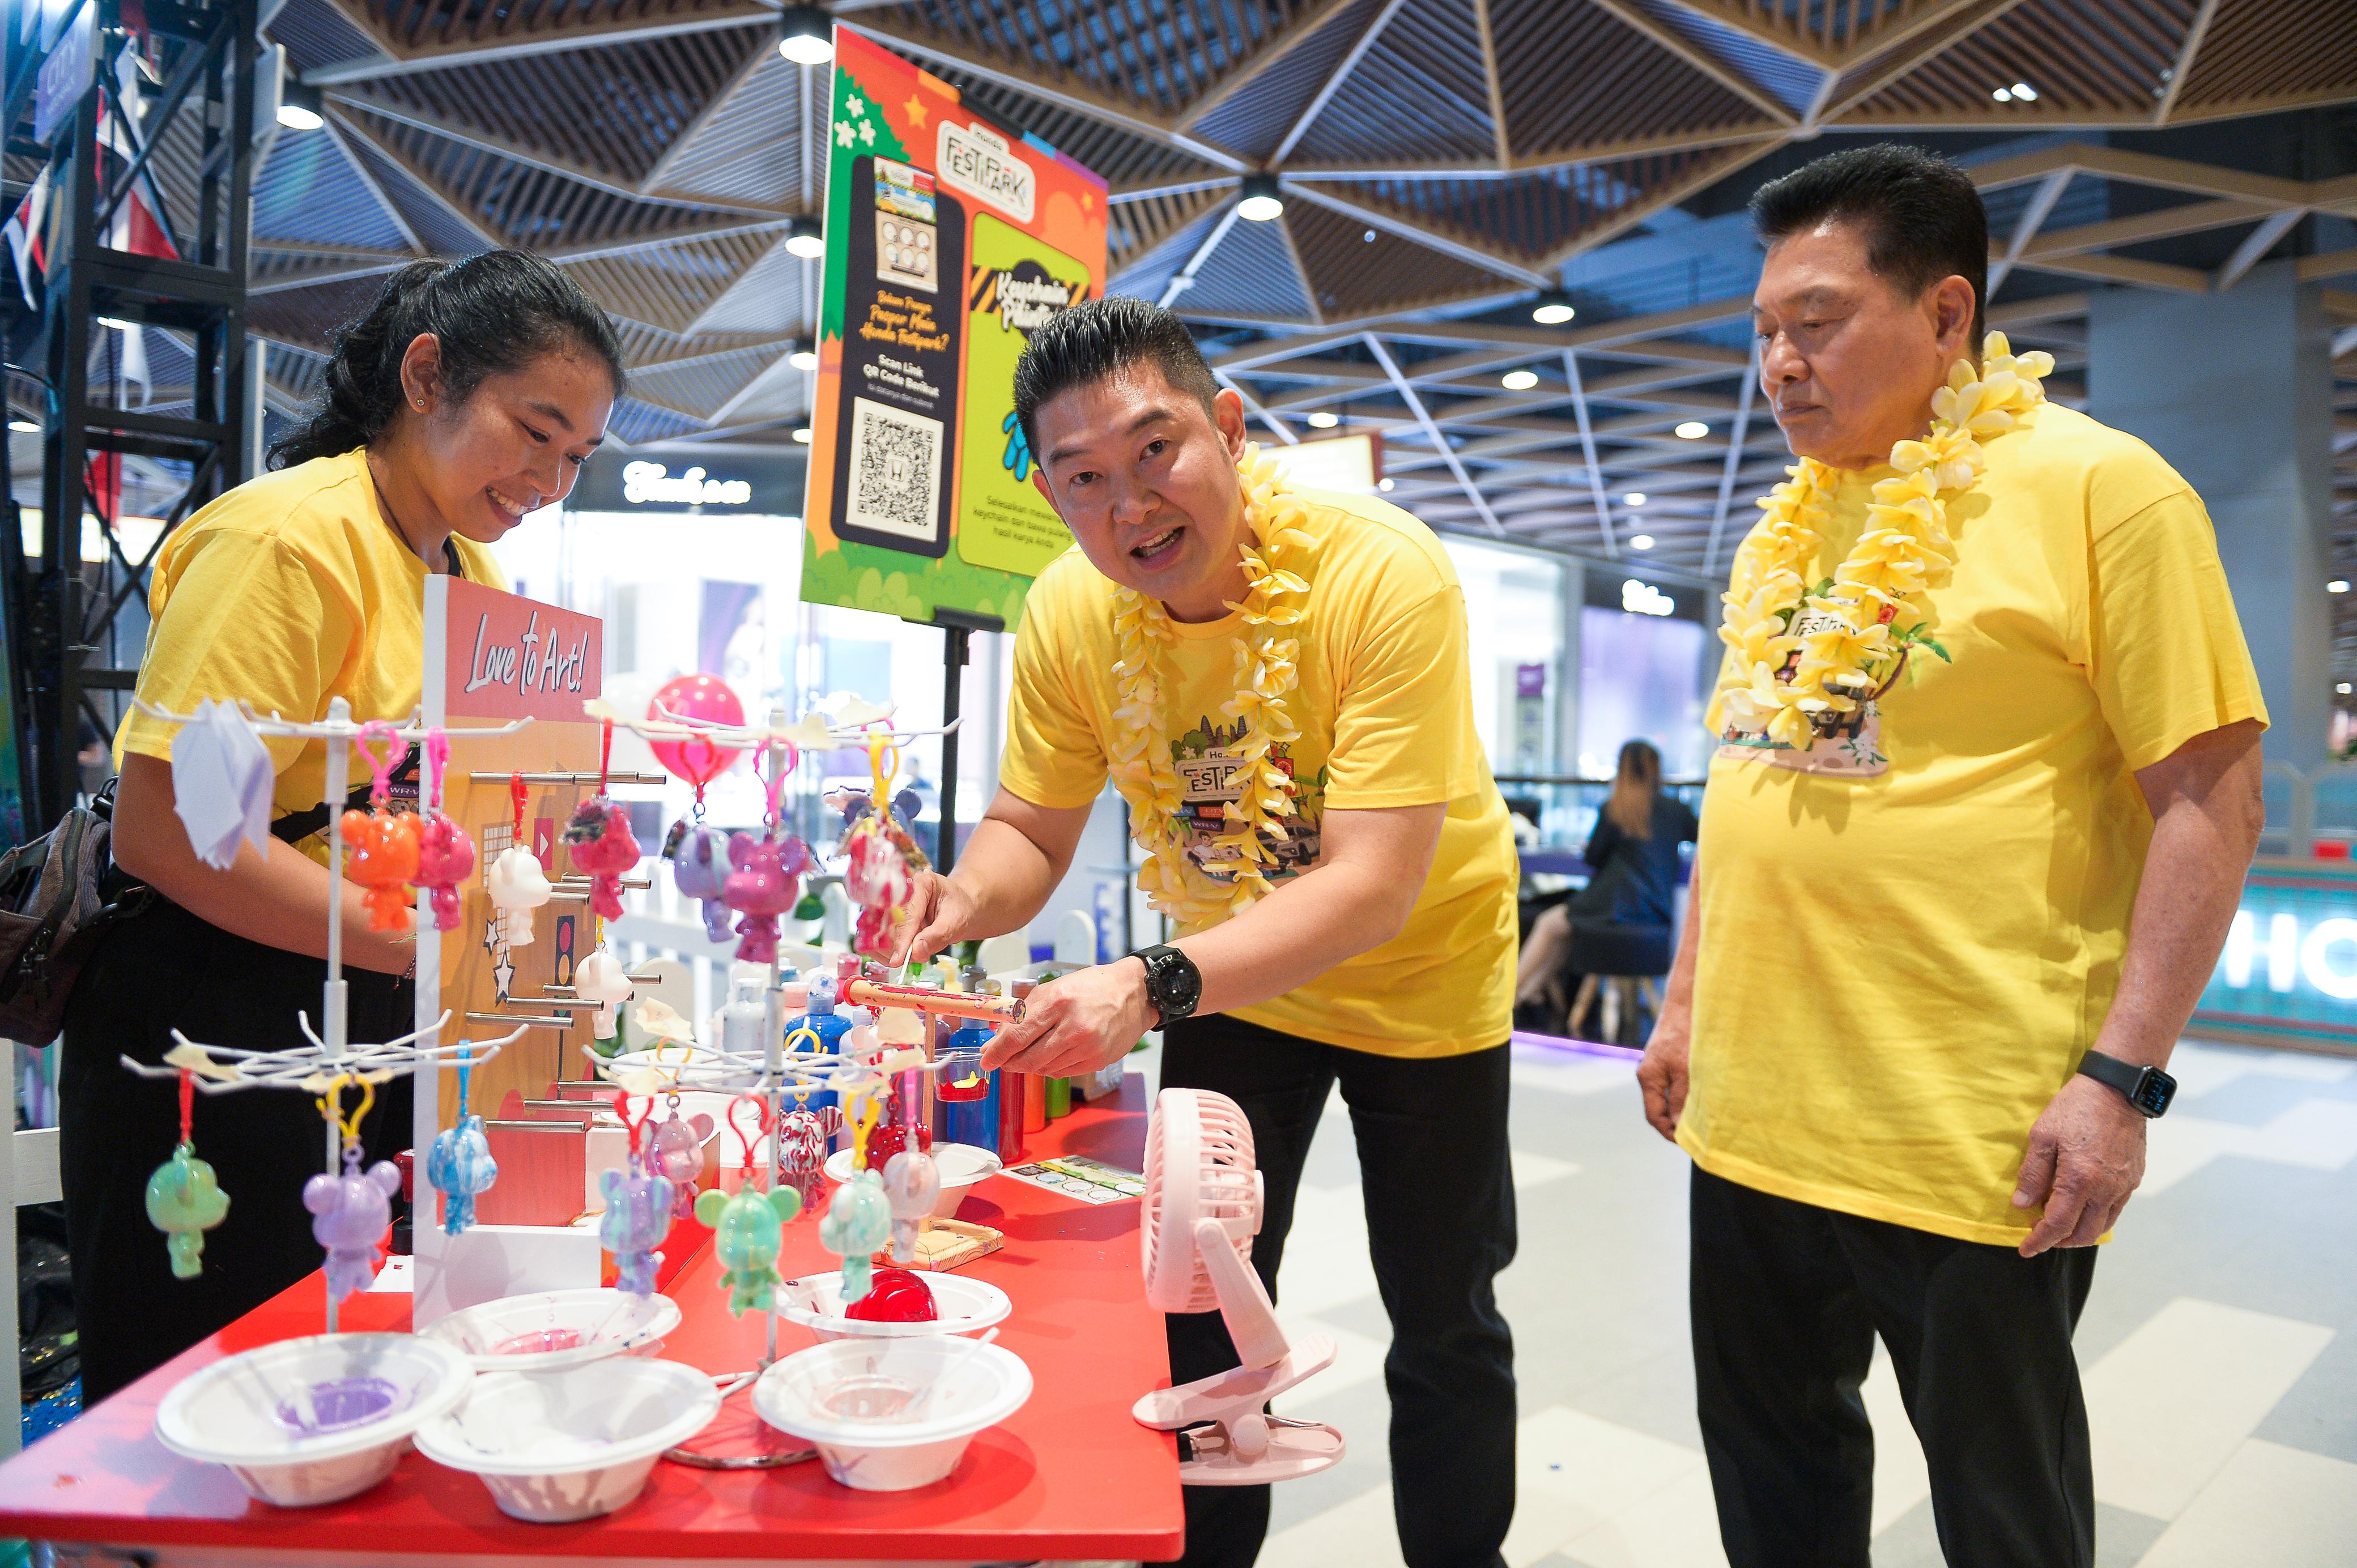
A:
{"label": "black pants of the man leaning over the table", "polygon": [[[1391,1497],[1409,1568],[1490,1568],[1513,1521],[1513,1335],[1490,1287],[1513,1261],[1506,1066],[1504,1047],[1412,1061],[1226,1016],[1186,1019],[1162,1037],[1162,1087],[1216,1089],[1252,1120],[1268,1191],[1252,1266],[1270,1299],[1301,1162],[1341,1080],[1391,1316]],[[1216,1311],[1164,1323],[1171,1382],[1237,1365]],[[1183,1561],[1193,1568],[1249,1568],[1263,1535],[1266,1485],[1186,1488]]]}

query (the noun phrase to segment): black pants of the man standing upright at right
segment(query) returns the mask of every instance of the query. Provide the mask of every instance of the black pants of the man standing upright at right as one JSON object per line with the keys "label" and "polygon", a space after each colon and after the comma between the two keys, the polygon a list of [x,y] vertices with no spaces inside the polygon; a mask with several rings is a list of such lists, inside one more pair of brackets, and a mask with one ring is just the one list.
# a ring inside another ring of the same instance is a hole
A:
{"label": "black pants of the man standing upright at right", "polygon": [[1695,1398],[1732,1568],[1867,1568],[1890,1349],[1952,1568],[2088,1568],[2095,1483],[2069,1339],[2093,1247],[2013,1247],[1836,1214],[1695,1170]]}

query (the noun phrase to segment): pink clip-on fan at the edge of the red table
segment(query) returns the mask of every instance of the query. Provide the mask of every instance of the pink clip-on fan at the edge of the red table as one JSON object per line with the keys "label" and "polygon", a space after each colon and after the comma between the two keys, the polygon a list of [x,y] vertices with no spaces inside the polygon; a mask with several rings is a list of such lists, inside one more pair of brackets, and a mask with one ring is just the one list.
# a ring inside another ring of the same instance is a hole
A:
{"label": "pink clip-on fan at the edge of the red table", "polygon": [[1334,1342],[1287,1344],[1277,1311],[1252,1271],[1261,1231],[1261,1172],[1252,1122],[1209,1089],[1162,1089],[1146,1132],[1146,1302],[1155,1311],[1211,1311],[1244,1365],[1176,1389],[1155,1389],[1131,1415],[1155,1431],[1193,1431],[1178,1462],[1186,1485],[1266,1485],[1315,1476],[1343,1452],[1341,1431],[1266,1415],[1273,1396],[1334,1365]]}

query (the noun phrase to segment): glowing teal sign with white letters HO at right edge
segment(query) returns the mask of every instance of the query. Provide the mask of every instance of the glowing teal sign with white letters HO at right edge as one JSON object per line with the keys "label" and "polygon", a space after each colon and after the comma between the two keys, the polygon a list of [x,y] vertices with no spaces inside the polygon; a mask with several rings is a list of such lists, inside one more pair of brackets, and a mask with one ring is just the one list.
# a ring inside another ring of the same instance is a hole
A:
{"label": "glowing teal sign with white letters HO at right edge", "polygon": [[2190,1033],[2357,1045],[2357,868],[2260,861]]}

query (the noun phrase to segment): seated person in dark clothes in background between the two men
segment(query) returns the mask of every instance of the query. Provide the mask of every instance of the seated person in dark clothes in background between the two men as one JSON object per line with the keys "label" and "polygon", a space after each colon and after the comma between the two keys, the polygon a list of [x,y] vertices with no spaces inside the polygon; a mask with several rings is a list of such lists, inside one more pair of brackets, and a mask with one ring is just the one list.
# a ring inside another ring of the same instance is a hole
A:
{"label": "seated person in dark clothes in background between the two men", "polygon": [[1695,842],[1695,813],[1662,795],[1662,752],[1650,740],[1622,745],[1612,795],[1596,813],[1596,832],[1582,856],[1589,884],[1539,915],[1523,943],[1513,979],[1513,1023],[1558,1033],[1570,986],[1572,927],[1676,924],[1678,844]]}

